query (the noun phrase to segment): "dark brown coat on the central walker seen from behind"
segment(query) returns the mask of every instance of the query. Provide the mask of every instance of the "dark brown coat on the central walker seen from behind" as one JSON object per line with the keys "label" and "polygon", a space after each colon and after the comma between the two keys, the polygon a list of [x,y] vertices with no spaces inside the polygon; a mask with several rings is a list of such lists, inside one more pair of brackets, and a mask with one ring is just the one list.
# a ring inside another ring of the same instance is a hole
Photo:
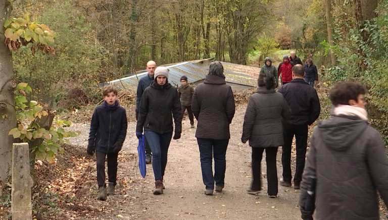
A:
{"label": "dark brown coat on the central walker seen from behind", "polygon": [[230,138],[235,105],[232,88],[223,77],[207,75],[192,96],[191,109],[198,121],[197,138]]}

